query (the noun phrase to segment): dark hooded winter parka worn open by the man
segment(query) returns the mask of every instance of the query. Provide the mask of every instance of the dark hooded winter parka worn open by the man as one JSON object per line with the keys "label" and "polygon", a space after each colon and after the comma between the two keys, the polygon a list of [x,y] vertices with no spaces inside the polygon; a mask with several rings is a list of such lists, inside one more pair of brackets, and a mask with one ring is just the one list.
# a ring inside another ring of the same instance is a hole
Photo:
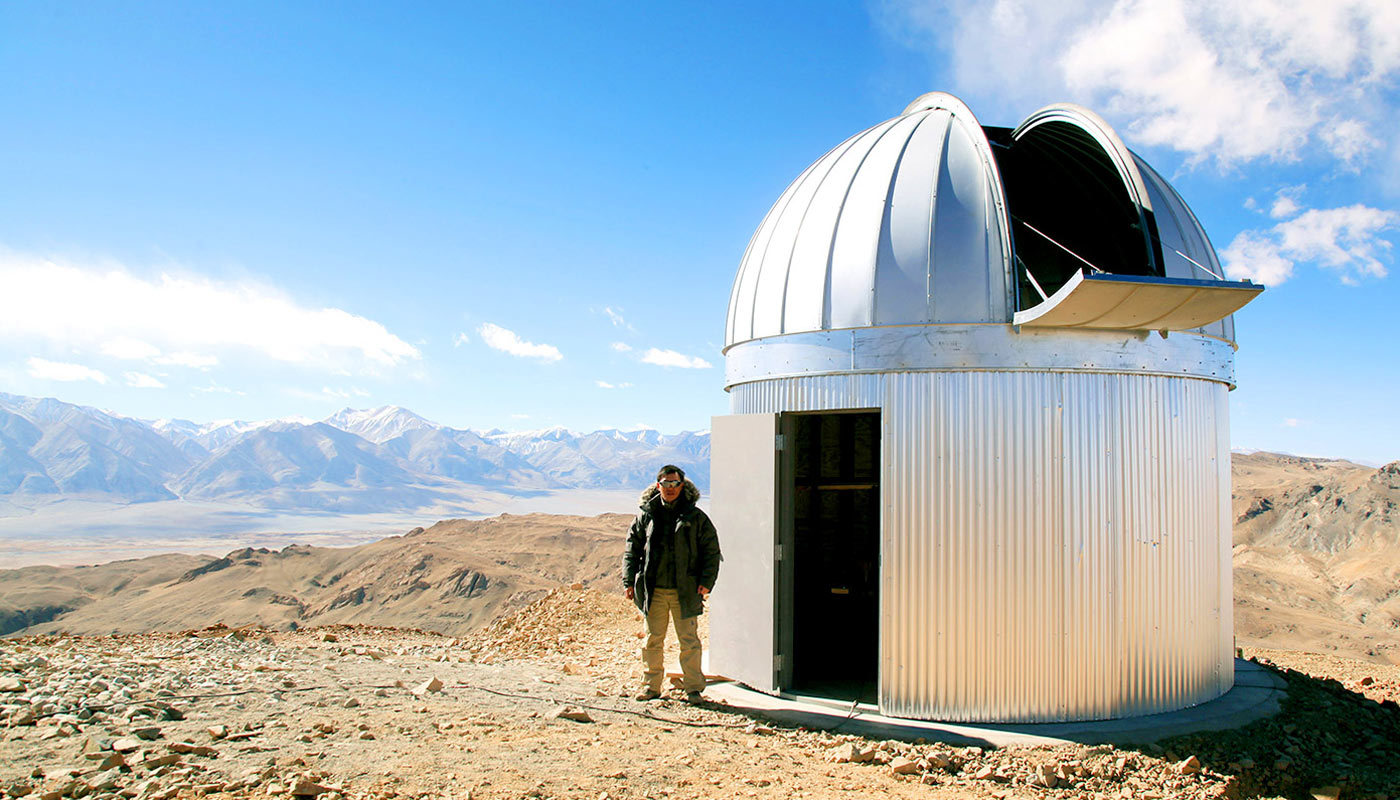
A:
{"label": "dark hooded winter parka worn open by the man", "polygon": [[[700,489],[687,478],[676,497],[673,513],[676,516],[676,593],[680,595],[680,615],[699,616],[704,614],[704,600],[700,597],[700,587],[714,588],[714,581],[720,577],[720,535],[714,530],[710,517],[696,507],[700,499]],[[627,532],[627,552],[622,559],[623,587],[633,588],[633,602],[643,614],[651,608],[651,595],[657,588],[657,558],[658,545],[657,514],[661,510],[661,490],[652,483],[641,493],[641,513],[631,523]]]}

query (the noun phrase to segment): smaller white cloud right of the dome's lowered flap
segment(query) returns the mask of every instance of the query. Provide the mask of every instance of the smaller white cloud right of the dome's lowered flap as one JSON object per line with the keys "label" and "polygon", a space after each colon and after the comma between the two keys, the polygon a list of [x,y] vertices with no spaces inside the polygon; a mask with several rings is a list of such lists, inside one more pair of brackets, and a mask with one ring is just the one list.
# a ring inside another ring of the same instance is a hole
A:
{"label": "smaller white cloud right of the dome's lowered flap", "polygon": [[1400,226],[1400,214],[1369,206],[1310,209],[1263,231],[1242,231],[1221,252],[1225,272],[1277,286],[1298,263],[1315,263],[1338,273],[1344,283],[1385,277],[1382,261],[1392,242],[1383,233]]}

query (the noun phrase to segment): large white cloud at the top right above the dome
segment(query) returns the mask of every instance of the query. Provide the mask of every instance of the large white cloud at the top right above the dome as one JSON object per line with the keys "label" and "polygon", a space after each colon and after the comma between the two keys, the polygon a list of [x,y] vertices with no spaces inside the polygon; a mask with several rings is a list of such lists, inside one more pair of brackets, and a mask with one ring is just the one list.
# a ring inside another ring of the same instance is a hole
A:
{"label": "large white cloud at the top right above the dome", "polygon": [[1397,120],[1394,0],[893,0],[883,22],[946,53],[962,91],[1082,102],[1193,160],[1355,168]]}

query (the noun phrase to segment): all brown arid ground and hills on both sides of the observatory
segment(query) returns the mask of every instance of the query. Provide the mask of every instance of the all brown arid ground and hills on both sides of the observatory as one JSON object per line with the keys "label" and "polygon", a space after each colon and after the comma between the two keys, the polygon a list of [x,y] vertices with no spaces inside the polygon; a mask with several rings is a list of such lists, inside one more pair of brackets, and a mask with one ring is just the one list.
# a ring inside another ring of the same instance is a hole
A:
{"label": "all brown arid ground and hills on both sides of the observatory", "polygon": [[0,572],[0,793],[1400,797],[1396,467],[1254,454],[1235,471],[1239,643],[1288,684],[1242,730],[981,751],[637,702],[629,517],[503,516]]}

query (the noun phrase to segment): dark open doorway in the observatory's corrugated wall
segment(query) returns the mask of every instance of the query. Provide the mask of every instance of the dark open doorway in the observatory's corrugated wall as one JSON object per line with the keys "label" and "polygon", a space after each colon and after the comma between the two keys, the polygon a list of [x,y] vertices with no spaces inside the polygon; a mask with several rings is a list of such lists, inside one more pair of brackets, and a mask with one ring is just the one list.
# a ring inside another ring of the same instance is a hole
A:
{"label": "dark open doorway in the observatory's corrugated wall", "polygon": [[879,412],[791,415],[784,430],[792,478],[785,688],[876,702]]}

